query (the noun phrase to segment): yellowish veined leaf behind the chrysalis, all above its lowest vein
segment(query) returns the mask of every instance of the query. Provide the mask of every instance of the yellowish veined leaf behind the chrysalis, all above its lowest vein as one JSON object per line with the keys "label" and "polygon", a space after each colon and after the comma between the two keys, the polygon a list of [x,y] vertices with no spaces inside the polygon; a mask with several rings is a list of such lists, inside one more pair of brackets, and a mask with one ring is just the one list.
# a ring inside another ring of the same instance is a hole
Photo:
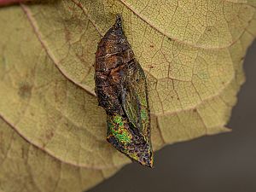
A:
{"label": "yellowish veined leaf behind the chrysalis, all above its lowest vein", "polygon": [[224,126],[244,82],[241,64],[256,34],[255,6],[71,0],[1,9],[0,114],[71,170],[117,170],[130,162],[105,141],[93,79],[96,45],[121,13],[147,73],[154,150],[229,131]]}

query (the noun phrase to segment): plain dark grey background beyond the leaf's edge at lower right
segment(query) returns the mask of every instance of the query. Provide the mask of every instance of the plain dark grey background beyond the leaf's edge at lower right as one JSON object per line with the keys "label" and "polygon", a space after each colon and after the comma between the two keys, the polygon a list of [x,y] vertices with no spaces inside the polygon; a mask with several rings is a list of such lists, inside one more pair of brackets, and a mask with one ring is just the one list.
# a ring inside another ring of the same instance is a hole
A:
{"label": "plain dark grey background beyond the leaf's edge at lower right", "polygon": [[256,42],[248,49],[247,81],[238,94],[230,133],[169,145],[154,169],[125,166],[90,192],[256,192]]}

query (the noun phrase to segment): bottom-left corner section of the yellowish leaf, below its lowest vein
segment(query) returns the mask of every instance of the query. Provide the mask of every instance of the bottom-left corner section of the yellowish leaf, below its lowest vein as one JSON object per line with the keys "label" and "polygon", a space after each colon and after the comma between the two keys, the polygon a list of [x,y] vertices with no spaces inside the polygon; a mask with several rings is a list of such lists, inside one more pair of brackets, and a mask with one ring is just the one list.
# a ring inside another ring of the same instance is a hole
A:
{"label": "bottom-left corner section of the yellowish leaf, below its lowest vein", "polygon": [[0,191],[83,191],[116,168],[73,167],[27,143],[0,119]]}

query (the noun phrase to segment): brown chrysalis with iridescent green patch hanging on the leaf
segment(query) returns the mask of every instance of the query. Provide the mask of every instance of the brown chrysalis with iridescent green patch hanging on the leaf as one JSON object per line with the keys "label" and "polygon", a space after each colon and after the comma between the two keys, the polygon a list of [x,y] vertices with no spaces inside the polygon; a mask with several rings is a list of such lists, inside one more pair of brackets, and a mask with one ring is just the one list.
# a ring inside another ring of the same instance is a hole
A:
{"label": "brown chrysalis with iridescent green patch hanging on the leaf", "polygon": [[106,110],[107,140],[121,153],[144,166],[153,166],[146,77],[134,58],[117,15],[98,44],[96,95]]}

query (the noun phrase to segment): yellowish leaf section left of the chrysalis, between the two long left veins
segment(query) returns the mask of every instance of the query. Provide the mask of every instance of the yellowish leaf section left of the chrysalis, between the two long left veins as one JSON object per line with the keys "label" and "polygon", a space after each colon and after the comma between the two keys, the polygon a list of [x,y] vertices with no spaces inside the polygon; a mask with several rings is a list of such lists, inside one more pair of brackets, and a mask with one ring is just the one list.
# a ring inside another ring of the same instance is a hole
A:
{"label": "yellowish leaf section left of the chrysalis, between the two long left veins", "polygon": [[8,16],[10,10],[2,10],[3,18],[12,23],[3,30],[3,119],[32,144],[65,162],[96,169],[122,165],[119,158],[126,158],[106,142],[105,112],[97,107],[96,96],[65,79],[33,34],[24,12],[13,8]]}

